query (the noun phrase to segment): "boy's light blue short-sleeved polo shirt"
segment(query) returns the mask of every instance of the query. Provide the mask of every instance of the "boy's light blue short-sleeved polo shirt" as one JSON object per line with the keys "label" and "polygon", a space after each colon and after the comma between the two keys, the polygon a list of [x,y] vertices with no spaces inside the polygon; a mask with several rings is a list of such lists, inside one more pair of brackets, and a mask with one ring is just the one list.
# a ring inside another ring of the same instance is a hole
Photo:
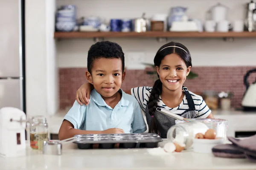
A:
{"label": "boy's light blue short-sleeved polo shirt", "polygon": [[121,100],[111,108],[102,96],[93,89],[90,94],[89,105],[79,105],[74,102],[64,119],[81,130],[107,130],[120,128],[125,133],[143,133],[146,125],[138,101],[121,89]]}

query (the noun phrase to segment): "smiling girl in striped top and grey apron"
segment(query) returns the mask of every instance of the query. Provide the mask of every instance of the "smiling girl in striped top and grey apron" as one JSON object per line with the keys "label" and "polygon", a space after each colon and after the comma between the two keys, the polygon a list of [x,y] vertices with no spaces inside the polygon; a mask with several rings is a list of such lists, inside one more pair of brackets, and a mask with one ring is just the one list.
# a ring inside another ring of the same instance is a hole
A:
{"label": "smiling girl in striped top and grey apron", "polygon": [[[149,133],[157,133],[166,138],[169,128],[175,125],[175,119],[156,111],[157,107],[185,118],[214,119],[202,97],[183,87],[192,67],[189,50],[184,45],[177,42],[163,45],[154,57],[154,66],[159,79],[153,87],[137,87],[125,91],[137,99],[145,112]],[[76,92],[76,100],[81,105],[89,103],[90,89],[90,84],[84,84]]]}

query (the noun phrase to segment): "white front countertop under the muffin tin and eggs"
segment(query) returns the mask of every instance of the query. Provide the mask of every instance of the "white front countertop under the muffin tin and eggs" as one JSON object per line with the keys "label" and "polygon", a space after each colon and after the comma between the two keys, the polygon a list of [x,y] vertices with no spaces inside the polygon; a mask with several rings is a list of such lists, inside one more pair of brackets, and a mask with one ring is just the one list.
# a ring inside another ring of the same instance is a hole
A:
{"label": "white front countertop under the muffin tin and eggs", "polygon": [[[28,141],[27,141],[28,142]],[[160,142],[163,146],[165,142]],[[27,156],[18,158],[0,157],[0,170],[252,170],[256,162],[248,159],[218,158],[212,153],[152,154],[161,148],[136,149],[90,149],[80,150],[76,144],[63,145],[62,155],[43,155],[32,150],[27,143]]]}

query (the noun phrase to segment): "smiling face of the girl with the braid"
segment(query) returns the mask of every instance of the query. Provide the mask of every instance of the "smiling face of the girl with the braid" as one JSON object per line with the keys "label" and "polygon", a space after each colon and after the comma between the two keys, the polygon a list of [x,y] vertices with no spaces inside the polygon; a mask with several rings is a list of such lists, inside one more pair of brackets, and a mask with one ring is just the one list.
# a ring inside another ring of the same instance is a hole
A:
{"label": "smiling face of the girl with the braid", "polygon": [[186,67],[185,62],[177,54],[166,55],[160,66],[156,66],[157,73],[163,88],[170,91],[181,90],[182,85],[186,80],[186,76],[189,75],[191,66]]}

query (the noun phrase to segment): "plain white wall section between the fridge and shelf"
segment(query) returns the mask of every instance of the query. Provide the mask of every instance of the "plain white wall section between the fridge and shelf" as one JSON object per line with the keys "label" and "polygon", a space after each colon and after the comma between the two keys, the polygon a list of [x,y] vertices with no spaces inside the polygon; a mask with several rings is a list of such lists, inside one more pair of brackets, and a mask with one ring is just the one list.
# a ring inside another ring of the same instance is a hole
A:
{"label": "plain white wall section between the fridge and shelf", "polygon": [[58,110],[55,62],[54,0],[26,0],[26,113],[45,115]]}

